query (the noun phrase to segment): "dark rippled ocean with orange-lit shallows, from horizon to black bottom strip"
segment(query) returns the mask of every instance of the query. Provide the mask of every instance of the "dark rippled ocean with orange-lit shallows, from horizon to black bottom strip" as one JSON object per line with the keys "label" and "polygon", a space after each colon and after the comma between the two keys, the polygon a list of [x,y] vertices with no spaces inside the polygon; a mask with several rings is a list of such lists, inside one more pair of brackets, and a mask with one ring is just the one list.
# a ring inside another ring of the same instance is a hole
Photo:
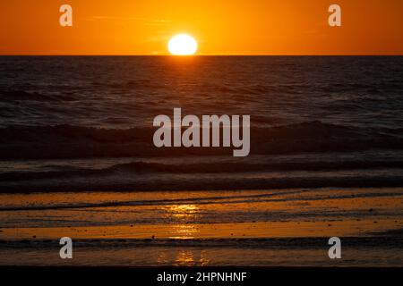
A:
{"label": "dark rippled ocean with orange-lit shallows, from horizon to black bottom strip", "polygon": [[[59,264],[65,235],[80,265],[331,265],[331,236],[339,265],[403,265],[402,79],[402,56],[0,56],[0,265]],[[250,155],[155,147],[179,107],[250,115]]]}

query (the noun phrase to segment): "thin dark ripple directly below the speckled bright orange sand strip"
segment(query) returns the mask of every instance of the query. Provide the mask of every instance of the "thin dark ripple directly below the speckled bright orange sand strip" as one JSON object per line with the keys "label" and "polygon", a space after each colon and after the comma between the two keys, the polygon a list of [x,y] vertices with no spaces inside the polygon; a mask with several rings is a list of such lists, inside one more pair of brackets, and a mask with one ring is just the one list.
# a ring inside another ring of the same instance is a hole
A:
{"label": "thin dark ripple directly below the speckled bright orange sand strip", "polygon": [[[297,238],[234,238],[234,239],[75,239],[74,248],[323,248],[328,237]],[[347,248],[403,248],[403,238],[397,236],[371,235],[366,237],[343,237]],[[0,240],[0,248],[60,248],[58,240]]]}

